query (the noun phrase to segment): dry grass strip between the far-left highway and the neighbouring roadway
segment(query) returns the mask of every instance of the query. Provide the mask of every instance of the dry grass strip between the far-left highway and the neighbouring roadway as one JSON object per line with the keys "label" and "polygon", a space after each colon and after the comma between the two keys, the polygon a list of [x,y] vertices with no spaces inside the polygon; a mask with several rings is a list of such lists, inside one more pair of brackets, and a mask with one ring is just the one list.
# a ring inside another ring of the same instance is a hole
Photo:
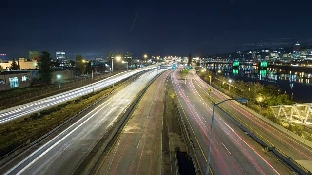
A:
{"label": "dry grass strip between the far-left highway and the neighbouring roadway", "polygon": [[[123,82],[120,81],[115,86]],[[0,157],[28,140],[32,142],[39,139],[111,91],[112,86],[109,86],[66,103],[2,124],[0,126]]]}

